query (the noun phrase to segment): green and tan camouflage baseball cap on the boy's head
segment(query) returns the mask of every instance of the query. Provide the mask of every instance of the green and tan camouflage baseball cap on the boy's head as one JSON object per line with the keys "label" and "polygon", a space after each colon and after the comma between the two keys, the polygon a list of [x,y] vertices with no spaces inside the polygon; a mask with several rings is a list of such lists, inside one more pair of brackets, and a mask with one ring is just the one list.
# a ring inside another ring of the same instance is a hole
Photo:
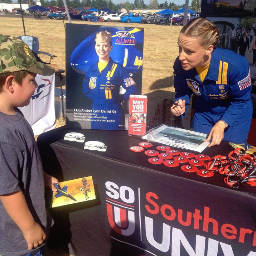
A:
{"label": "green and tan camouflage baseball cap on the boy's head", "polygon": [[26,70],[42,76],[55,69],[38,62],[29,46],[17,37],[0,34],[0,73]]}

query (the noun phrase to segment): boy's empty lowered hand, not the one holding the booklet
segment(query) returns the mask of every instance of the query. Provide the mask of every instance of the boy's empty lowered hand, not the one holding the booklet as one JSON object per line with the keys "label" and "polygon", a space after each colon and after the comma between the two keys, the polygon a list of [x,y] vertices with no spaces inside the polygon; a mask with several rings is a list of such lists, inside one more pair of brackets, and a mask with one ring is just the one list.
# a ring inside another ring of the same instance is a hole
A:
{"label": "boy's empty lowered hand, not the one holding the booklet", "polygon": [[42,245],[46,238],[44,231],[37,222],[34,222],[34,225],[29,230],[23,231],[23,236],[28,244],[28,250]]}

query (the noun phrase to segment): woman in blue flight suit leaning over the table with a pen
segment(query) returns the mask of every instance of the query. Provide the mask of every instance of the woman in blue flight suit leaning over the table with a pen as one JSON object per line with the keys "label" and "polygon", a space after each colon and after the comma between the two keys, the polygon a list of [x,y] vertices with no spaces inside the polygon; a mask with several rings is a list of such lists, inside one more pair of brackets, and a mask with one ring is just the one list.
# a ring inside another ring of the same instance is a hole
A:
{"label": "woman in blue flight suit leaning over the table with a pen", "polygon": [[180,31],[174,62],[175,103],[171,111],[185,116],[185,104],[195,93],[194,131],[208,134],[209,147],[227,140],[245,143],[251,125],[251,77],[247,59],[215,48],[219,30],[211,21],[195,18]]}

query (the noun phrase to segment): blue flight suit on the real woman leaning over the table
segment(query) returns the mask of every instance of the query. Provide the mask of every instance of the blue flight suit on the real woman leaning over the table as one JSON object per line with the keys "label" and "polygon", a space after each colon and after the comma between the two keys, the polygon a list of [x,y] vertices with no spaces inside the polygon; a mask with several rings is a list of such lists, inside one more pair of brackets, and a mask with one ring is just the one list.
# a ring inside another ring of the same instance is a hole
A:
{"label": "blue flight suit on the real woman leaning over the table", "polygon": [[[197,95],[193,131],[209,134],[212,127],[223,120],[228,123],[224,140],[244,143],[252,118],[252,86],[247,59],[231,50],[214,48],[203,82],[195,68],[184,71],[179,57],[173,68],[175,101],[182,99],[189,103],[192,93]],[[184,117],[185,113],[180,116]]]}

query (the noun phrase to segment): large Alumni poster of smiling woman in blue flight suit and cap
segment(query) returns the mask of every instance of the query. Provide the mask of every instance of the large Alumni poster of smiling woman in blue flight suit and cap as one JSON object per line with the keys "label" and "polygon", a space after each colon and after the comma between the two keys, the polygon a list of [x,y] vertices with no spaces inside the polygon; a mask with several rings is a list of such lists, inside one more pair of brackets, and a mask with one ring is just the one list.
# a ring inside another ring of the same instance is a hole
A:
{"label": "large Alumni poster of smiling woman in blue flight suit and cap", "polygon": [[66,25],[66,125],[127,130],[141,94],[144,28]]}

